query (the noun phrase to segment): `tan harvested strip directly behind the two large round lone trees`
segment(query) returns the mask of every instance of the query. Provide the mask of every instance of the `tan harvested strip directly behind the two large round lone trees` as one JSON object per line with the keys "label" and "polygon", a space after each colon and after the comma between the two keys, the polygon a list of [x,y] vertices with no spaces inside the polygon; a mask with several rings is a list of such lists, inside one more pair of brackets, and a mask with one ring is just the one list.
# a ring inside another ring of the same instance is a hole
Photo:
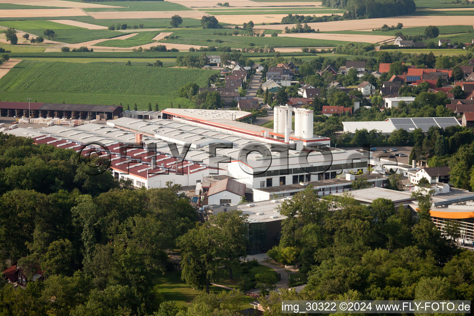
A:
{"label": "tan harvested strip directly behind the two large round lone trees", "polygon": [[196,10],[184,11],[100,11],[89,12],[92,18],[171,18],[173,15],[179,15],[182,18],[202,18],[206,13]]}

